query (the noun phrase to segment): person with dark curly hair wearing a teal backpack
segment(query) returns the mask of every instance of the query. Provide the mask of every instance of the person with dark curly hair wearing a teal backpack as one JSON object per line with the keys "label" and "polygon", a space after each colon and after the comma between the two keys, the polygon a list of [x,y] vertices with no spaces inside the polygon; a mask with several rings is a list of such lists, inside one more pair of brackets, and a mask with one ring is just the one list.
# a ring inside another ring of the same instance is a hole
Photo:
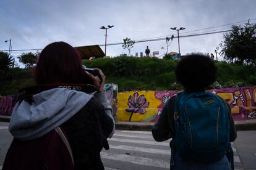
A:
{"label": "person with dark curly hair wearing a teal backpack", "polygon": [[171,169],[234,169],[230,142],[236,128],[228,103],[205,89],[217,78],[217,67],[202,54],[187,55],[175,70],[185,90],[164,105],[152,128],[156,141],[173,138]]}

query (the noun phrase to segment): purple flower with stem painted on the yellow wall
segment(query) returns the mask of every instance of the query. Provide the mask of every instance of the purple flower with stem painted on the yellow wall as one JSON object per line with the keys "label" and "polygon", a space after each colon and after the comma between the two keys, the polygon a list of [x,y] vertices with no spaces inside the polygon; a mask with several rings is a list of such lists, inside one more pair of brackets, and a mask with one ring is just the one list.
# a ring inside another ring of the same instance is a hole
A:
{"label": "purple flower with stem painted on the yellow wall", "polygon": [[147,99],[145,97],[145,95],[140,95],[139,97],[138,92],[135,92],[133,95],[130,95],[127,105],[129,106],[129,108],[126,108],[126,111],[131,112],[132,114],[130,115],[129,121],[130,119],[132,119],[132,115],[134,113],[140,113],[140,114],[144,114],[146,113],[145,108],[148,108],[149,106],[149,102],[147,102]]}

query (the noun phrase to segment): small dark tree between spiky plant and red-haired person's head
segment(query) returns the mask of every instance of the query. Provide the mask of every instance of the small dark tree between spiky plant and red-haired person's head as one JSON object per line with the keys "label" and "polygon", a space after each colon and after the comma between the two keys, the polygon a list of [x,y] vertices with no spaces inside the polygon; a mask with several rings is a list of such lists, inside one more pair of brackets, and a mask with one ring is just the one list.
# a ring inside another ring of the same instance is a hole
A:
{"label": "small dark tree between spiky plant and red-haired person's head", "polygon": [[33,66],[34,63],[36,63],[38,55],[39,52],[36,52],[35,54],[33,54],[32,52],[28,52],[22,53],[22,55],[17,58],[19,59],[20,63],[23,63],[25,65],[26,68],[30,68]]}

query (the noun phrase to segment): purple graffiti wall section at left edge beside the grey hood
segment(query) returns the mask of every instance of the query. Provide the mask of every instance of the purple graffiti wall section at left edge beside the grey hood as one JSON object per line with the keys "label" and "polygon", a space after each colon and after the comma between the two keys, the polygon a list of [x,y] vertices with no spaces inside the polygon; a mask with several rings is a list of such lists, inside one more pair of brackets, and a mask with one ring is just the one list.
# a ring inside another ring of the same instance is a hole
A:
{"label": "purple graffiti wall section at left edge beside the grey hood", "polygon": [[11,116],[16,99],[17,97],[15,95],[0,96],[0,116]]}

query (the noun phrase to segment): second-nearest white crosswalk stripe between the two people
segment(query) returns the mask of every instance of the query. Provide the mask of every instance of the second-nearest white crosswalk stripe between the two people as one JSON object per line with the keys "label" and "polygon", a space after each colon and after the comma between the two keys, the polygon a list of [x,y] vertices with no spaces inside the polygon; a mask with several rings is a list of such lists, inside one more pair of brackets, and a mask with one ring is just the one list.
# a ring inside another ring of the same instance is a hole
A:
{"label": "second-nearest white crosswalk stripe between the two people", "polygon": [[163,155],[171,155],[171,150],[163,150],[156,148],[143,148],[143,147],[130,147],[126,145],[109,145],[109,148],[119,149],[119,150],[129,150],[129,151],[137,151],[137,152],[146,152],[146,153],[156,153]]}

